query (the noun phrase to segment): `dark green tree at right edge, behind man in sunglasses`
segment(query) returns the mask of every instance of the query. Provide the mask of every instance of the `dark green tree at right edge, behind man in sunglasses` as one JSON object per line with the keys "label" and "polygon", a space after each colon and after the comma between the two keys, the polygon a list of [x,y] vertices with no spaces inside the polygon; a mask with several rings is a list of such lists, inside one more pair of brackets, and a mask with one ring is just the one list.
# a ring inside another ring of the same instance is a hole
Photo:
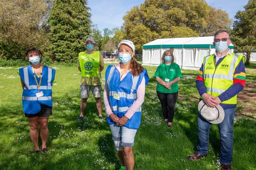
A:
{"label": "dark green tree at right edge, behind man in sunglasses", "polygon": [[248,65],[251,51],[256,49],[256,0],[249,0],[244,9],[236,13],[232,41],[238,52],[246,53]]}

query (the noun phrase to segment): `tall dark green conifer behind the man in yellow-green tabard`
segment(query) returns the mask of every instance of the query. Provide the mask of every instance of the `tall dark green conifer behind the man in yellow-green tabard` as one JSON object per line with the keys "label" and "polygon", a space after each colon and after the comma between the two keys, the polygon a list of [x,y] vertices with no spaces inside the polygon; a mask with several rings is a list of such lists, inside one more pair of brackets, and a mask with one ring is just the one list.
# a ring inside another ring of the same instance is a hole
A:
{"label": "tall dark green conifer behind the man in yellow-green tabard", "polygon": [[90,33],[86,0],[54,0],[50,10],[51,49],[58,62],[75,63]]}

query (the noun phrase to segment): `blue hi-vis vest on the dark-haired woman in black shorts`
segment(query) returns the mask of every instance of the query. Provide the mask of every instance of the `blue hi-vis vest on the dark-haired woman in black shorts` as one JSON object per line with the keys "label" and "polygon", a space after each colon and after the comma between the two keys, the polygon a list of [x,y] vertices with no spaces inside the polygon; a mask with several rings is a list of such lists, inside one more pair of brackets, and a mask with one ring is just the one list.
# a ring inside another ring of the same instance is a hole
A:
{"label": "blue hi-vis vest on the dark-haired woman in black shorts", "polygon": [[[43,66],[42,80],[39,90],[36,85],[36,80],[34,78],[31,65],[20,68],[19,74],[20,78],[25,84],[22,93],[22,106],[24,113],[38,113],[41,110],[40,104],[52,107],[52,83],[55,77],[55,70],[48,66]],[[36,78],[39,83],[40,78],[37,76]],[[41,97],[36,97],[36,93],[41,91],[44,93],[44,95]]]}

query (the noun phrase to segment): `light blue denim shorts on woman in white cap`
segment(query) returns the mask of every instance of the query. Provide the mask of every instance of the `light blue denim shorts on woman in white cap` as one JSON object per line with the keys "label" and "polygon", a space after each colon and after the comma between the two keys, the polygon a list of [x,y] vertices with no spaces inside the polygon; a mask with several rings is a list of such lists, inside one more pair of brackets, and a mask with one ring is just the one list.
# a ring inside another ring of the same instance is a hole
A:
{"label": "light blue denim shorts on woman in white cap", "polygon": [[109,126],[116,150],[120,151],[122,150],[122,147],[133,147],[137,129],[130,129],[115,124]]}

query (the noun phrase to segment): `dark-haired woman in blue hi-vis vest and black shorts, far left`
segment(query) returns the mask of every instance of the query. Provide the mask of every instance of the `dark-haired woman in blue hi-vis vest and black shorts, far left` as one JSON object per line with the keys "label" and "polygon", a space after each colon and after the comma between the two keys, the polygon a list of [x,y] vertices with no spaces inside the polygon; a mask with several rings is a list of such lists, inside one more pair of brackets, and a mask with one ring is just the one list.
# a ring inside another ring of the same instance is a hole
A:
{"label": "dark-haired woman in blue hi-vis vest and black shorts, far left", "polygon": [[31,65],[19,69],[22,93],[22,107],[30,124],[30,137],[35,153],[40,153],[38,127],[42,140],[42,153],[48,151],[48,119],[52,115],[52,84],[55,70],[41,64],[42,52],[36,47],[26,51],[26,60]]}

